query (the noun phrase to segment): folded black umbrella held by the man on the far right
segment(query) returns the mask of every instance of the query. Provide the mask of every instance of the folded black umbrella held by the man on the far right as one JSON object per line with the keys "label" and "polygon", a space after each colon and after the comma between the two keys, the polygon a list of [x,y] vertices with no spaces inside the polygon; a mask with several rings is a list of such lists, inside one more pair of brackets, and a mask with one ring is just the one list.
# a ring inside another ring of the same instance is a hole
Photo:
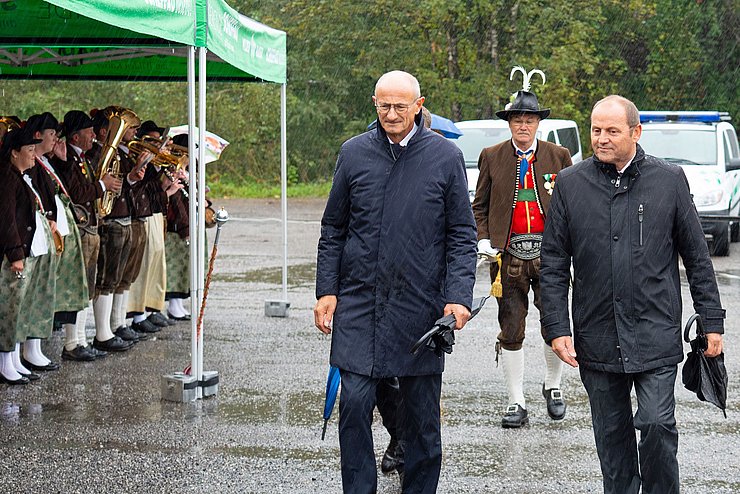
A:
{"label": "folded black umbrella held by the man on the far right", "polygon": [[[696,321],[696,338],[689,341],[689,330]],[[699,314],[691,316],[686,323],[683,338],[691,344],[686,363],[683,365],[683,385],[696,393],[701,401],[708,401],[722,410],[727,418],[727,369],[725,355],[706,357],[707,336]]]}

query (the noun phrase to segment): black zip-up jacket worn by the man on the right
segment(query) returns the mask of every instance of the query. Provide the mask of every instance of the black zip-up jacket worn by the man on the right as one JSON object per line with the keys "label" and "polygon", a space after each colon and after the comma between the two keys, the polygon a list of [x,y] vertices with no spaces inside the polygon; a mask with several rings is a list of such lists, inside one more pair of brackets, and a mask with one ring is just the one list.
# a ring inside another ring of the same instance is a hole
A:
{"label": "black zip-up jacket worn by the man on the right", "polygon": [[644,372],[683,360],[678,256],[694,310],[723,333],[714,269],[683,170],[637,146],[619,178],[595,157],[558,174],[541,254],[545,341],[573,332],[579,365]]}

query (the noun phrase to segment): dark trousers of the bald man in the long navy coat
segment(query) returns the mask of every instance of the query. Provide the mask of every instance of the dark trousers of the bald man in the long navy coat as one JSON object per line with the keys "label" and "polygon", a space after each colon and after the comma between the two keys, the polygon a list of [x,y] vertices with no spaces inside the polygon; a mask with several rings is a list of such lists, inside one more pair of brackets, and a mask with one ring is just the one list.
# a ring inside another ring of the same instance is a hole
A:
{"label": "dark trousers of the bald man in the long navy coat", "polygon": [[[381,379],[342,370],[339,449],[345,493],[372,494],[378,486],[372,418]],[[437,491],[442,466],[439,399],[442,375],[399,377],[399,440],[404,450],[404,494]]]}

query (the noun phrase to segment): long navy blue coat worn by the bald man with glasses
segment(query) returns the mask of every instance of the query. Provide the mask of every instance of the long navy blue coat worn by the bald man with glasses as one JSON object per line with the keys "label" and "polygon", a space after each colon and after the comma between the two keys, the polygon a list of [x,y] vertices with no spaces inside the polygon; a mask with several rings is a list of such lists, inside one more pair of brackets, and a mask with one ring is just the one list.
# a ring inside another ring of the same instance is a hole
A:
{"label": "long navy blue coat worn by the bald man with glasses", "polygon": [[423,126],[397,161],[380,126],[345,142],[317,262],[316,297],[338,297],[332,365],[372,377],[441,373],[443,358],[409,349],[445,304],[472,303],[476,231],[461,151]]}

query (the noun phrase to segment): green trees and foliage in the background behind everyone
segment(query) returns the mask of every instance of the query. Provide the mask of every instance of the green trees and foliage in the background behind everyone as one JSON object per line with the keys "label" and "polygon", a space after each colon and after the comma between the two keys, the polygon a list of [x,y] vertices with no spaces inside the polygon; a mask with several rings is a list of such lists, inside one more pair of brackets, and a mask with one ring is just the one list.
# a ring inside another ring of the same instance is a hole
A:
{"label": "green trees and foliage in the background behind everyone", "polygon": [[[737,0],[229,0],[288,33],[288,181],[323,195],[343,141],[375,119],[377,78],[417,76],[434,113],[494,113],[520,89],[511,68],[542,69],[533,84],[552,116],[578,122],[611,93],[642,109],[717,109],[740,119]],[[0,80],[1,81],[1,80]],[[182,83],[1,81],[0,108],[27,117],[109,104],[160,125],[187,121]],[[215,195],[279,195],[280,90],[209,83],[209,130],[231,142],[209,165]],[[317,183],[318,188],[304,187]]]}

